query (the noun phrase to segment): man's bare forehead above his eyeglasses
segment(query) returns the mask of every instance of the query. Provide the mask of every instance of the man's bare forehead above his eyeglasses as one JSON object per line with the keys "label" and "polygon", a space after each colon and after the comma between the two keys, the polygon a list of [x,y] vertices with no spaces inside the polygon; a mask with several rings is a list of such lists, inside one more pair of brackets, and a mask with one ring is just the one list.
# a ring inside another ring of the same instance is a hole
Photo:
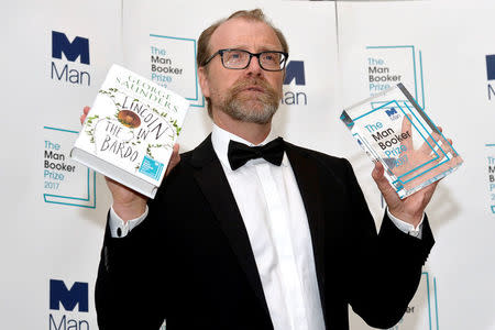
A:
{"label": "man's bare forehead above his eyeglasses", "polygon": [[220,24],[210,38],[211,52],[244,48],[251,52],[282,51],[275,31],[264,22],[237,18]]}

